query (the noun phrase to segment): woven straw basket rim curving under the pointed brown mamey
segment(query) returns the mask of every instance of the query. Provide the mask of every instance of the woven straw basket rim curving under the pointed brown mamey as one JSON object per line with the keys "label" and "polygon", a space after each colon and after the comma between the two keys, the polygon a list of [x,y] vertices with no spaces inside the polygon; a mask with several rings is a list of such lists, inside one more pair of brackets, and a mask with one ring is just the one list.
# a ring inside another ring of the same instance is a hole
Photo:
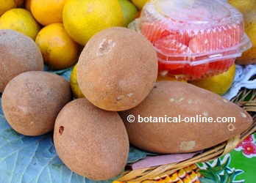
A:
{"label": "woven straw basket rim curving under the pointed brown mamey", "polygon": [[153,180],[155,177],[162,177],[174,173],[179,169],[185,168],[194,163],[202,163],[209,160],[214,160],[217,157],[221,157],[224,154],[227,154],[235,149],[238,143],[241,143],[243,139],[252,133],[256,132],[256,90],[243,89],[233,100],[232,102],[237,103],[246,111],[248,111],[254,122],[248,130],[241,133],[240,135],[231,138],[230,140],[213,146],[210,149],[205,149],[201,154],[197,154],[191,159],[179,162],[172,163],[167,165],[159,165],[151,168],[144,168],[141,170],[135,171],[124,171],[121,177],[117,180],[119,182],[142,182],[145,180]]}

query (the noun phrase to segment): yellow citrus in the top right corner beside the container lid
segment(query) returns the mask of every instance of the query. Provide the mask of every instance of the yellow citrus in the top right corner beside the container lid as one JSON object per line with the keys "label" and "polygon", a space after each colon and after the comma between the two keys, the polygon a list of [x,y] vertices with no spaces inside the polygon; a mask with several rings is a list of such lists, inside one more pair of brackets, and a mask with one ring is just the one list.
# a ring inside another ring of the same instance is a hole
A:
{"label": "yellow citrus in the top right corner beside the container lid", "polygon": [[256,0],[229,0],[229,3],[243,13],[250,12],[256,8]]}

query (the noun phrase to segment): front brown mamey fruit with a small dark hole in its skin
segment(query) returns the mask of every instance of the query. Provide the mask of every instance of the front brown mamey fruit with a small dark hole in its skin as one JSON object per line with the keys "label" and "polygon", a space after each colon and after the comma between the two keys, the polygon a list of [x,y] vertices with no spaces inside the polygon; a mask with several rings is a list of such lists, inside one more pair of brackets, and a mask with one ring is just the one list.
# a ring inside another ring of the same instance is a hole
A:
{"label": "front brown mamey fruit with a small dark hole in its skin", "polygon": [[85,98],[69,102],[57,116],[54,145],[63,163],[81,176],[106,180],[124,170],[129,141],[118,113]]}

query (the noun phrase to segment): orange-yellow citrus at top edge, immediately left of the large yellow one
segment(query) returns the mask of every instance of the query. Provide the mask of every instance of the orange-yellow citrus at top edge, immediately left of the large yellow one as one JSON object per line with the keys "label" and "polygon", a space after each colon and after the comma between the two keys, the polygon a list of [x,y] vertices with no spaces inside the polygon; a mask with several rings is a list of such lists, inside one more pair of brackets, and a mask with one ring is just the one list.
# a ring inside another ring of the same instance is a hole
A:
{"label": "orange-yellow citrus at top edge, immediately left of the large yellow one", "polygon": [[31,0],[30,3],[35,19],[44,26],[63,22],[65,0]]}

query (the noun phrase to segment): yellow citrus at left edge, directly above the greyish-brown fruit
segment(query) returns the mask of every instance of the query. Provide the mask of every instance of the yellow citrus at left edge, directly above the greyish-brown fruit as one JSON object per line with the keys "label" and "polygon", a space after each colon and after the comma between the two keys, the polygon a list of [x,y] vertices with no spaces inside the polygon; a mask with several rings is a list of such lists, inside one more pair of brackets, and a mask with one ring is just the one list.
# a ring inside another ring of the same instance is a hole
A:
{"label": "yellow citrus at left edge, directly above the greyish-brown fruit", "polygon": [[29,11],[15,8],[1,15],[0,29],[13,29],[35,40],[40,26]]}

